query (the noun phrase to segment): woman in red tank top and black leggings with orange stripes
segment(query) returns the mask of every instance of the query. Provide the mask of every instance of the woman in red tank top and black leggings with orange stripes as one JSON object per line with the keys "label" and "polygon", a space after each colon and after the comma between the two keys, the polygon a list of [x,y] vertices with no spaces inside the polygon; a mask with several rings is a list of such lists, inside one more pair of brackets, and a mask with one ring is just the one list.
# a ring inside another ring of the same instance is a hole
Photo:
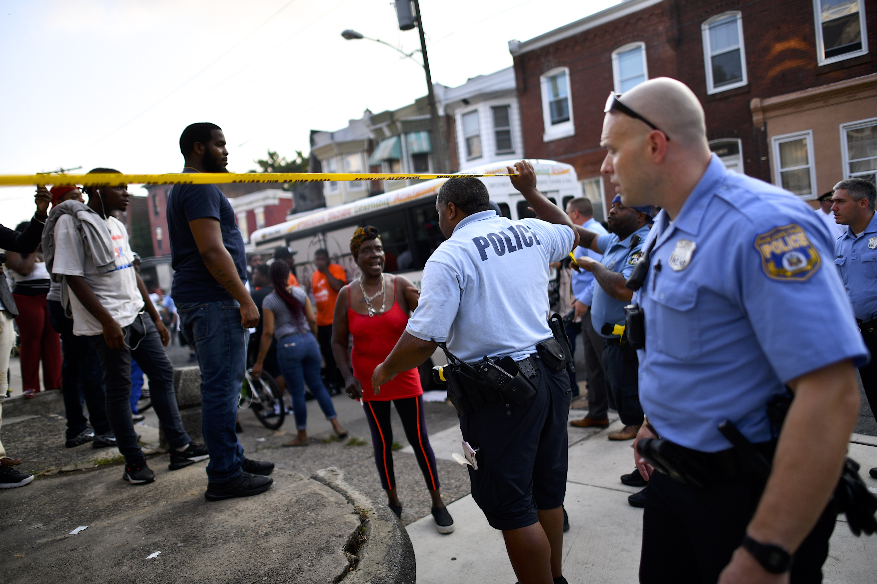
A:
{"label": "woman in red tank top and black leggings with orange stripes", "polygon": [[[361,399],[365,408],[372,432],[374,462],[381,476],[381,485],[387,491],[389,508],[402,517],[402,503],[396,494],[393,473],[393,430],[389,416],[392,402],[430,491],[436,528],[441,533],[450,533],[453,519],[439,493],[439,471],[426,433],[424,391],[417,369],[399,373],[381,385],[378,393],[374,392],[371,383],[374,368],[396,346],[411,311],[417,308],[420,291],[408,278],[383,273],[386,256],[381,236],[374,227],[357,229],[350,242],[350,251],[361,275],[341,288],[335,302],[332,320],[335,362],[344,376],[347,395]],[[350,334],[353,334],[353,350],[348,358]]]}

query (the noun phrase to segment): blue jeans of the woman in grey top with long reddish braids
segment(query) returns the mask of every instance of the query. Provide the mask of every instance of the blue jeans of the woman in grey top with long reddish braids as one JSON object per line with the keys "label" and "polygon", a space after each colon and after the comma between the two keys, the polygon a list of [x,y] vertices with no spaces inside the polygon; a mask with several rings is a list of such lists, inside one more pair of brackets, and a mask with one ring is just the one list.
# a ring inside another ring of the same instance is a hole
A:
{"label": "blue jeans of the woman in grey top with long reddish braids", "polygon": [[296,430],[308,427],[308,407],[304,404],[304,382],[317,398],[326,419],[336,419],[332,398],[323,386],[320,376],[320,348],[313,334],[289,334],[277,341],[277,364],[280,365],[286,388],[292,396],[296,416]]}

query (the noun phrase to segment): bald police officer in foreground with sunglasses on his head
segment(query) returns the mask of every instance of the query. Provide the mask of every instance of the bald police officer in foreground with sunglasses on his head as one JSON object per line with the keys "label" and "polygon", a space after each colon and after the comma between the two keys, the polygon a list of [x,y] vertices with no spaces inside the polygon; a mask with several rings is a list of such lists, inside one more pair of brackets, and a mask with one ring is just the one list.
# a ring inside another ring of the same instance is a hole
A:
{"label": "bald police officer in foreground with sunglasses on his head", "polygon": [[[724,168],[680,81],[645,81],[605,110],[602,172],[625,205],[662,208],[633,298],[646,416],[634,461],[649,479],[639,579],[781,582],[791,565],[792,582],[819,581],[835,523],[826,504],[858,416],[853,363],[868,357],[832,238],[791,193]],[[766,406],[786,386],[777,442]],[[723,420],[773,460],[766,482]],[[644,441],[656,435],[666,442]],[[658,445],[696,480],[653,472],[644,454]]]}

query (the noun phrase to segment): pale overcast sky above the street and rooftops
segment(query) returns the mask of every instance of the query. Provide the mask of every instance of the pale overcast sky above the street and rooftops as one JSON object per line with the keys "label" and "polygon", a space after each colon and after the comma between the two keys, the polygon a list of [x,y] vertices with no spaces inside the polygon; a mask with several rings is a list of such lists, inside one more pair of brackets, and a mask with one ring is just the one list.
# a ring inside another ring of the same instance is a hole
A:
{"label": "pale overcast sky above the street and rooftops", "polygon": [[[454,87],[512,64],[531,39],[616,0],[421,0],[432,80]],[[310,130],[425,95],[389,0],[0,0],[0,174],[82,165],[179,172],[193,122],[225,130],[229,170],[267,149],[308,153]],[[33,212],[32,187],[0,187],[0,223]],[[132,193],[142,189],[132,188]]]}

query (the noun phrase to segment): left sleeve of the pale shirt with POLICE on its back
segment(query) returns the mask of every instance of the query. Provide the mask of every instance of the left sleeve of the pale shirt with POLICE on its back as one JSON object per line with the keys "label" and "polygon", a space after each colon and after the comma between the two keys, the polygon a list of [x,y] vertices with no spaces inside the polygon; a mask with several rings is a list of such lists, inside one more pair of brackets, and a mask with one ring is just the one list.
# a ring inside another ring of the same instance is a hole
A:
{"label": "left sleeve of the pale shirt with POLICE on its back", "polygon": [[405,330],[422,341],[447,341],[460,308],[462,282],[450,265],[429,261],[421,278],[420,299]]}

